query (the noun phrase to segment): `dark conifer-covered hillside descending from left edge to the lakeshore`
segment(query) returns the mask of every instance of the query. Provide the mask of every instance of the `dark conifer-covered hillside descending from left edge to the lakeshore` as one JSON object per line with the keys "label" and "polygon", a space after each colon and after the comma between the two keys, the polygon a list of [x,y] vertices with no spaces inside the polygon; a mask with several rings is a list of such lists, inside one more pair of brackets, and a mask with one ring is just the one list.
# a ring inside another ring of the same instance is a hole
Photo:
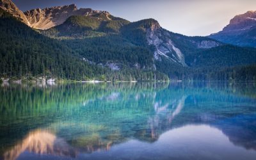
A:
{"label": "dark conifer-covered hillside descending from left edge to the lakeshore", "polygon": [[0,10],[1,77],[48,76],[70,80],[148,80],[166,76],[150,70],[125,68],[117,72],[90,64],[65,43],[38,34]]}

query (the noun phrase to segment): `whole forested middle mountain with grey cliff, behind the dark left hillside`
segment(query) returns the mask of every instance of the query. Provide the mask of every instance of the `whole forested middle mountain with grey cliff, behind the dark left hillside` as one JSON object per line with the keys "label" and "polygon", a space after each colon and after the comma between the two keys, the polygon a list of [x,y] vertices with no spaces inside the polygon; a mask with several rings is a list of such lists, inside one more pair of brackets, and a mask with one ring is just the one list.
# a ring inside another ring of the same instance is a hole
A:
{"label": "whole forested middle mountain with grey cliff, behind the dark left hillside", "polygon": [[[109,26],[115,29],[106,28],[106,24],[112,24]],[[255,49],[225,45],[202,36],[172,33],[161,28],[154,19],[129,22],[116,17],[109,20],[104,16],[99,19],[79,15],[39,32],[62,40],[91,63],[120,66],[125,62],[127,67],[157,70],[172,79],[191,77],[194,68],[197,74],[200,72],[203,75],[205,72],[214,72],[216,67],[227,68],[256,62]],[[143,52],[138,49],[143,49]],[[120,55],[126,56],[120,58]],[[136,56],[143,58],[134,61]],[[204,70],[198,71],[198,68]]]}

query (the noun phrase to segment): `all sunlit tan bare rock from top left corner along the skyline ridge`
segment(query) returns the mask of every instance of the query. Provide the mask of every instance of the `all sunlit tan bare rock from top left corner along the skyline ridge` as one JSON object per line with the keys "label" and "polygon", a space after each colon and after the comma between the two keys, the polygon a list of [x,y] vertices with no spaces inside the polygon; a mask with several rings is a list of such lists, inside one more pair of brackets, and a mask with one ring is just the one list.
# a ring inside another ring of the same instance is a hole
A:
{"label": "all sunlit tan bare rock from top left corner along the skyline ridge", "polygon": [[92,10],[91,8],[77,9],[75,4],[44,9],[37,8],[23,13],[11,0],[0,0],[0,8],[11,13],[14,17],[17,17],[17,19],[31,28],[36,29],[49,29],[58,26],[72,15],[104,15],[103,17],[105,19],[111,20],[109,12]]}

